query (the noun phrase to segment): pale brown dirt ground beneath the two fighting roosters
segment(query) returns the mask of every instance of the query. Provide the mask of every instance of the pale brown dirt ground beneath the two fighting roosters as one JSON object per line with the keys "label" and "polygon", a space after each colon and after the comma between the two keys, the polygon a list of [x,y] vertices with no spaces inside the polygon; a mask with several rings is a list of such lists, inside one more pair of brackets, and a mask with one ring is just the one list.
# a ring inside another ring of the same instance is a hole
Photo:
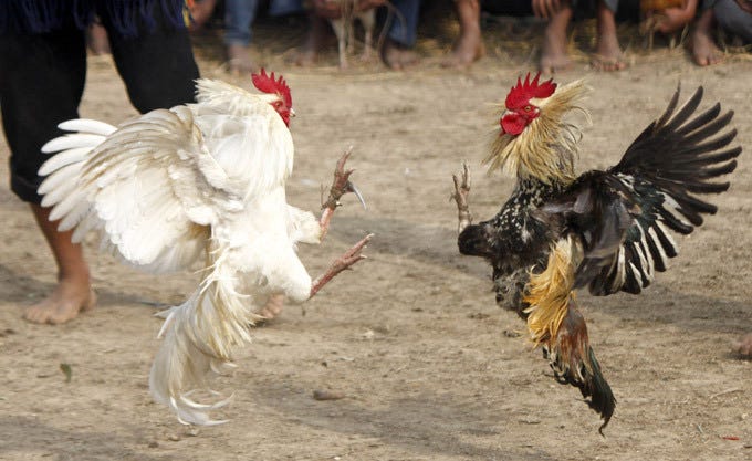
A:
{"label": "pale brown dirt ground beneath the two fighting roosters", "polygon": [[[259,33],[259,36],[262,36]],[[720,211],[640,296],[583,296],[592,344],[618,400],[606,429],[575,388],[552,379],[524,325],[494,305],[490,270],[461,256],[450,175],[467,159],[471,206],[492,216],[512,181],[482,174],[495,121],[489,115],[534,50],[487,36],[489,55],[467,72],[427,61],[394,73],[378,65],[341,73],[336,55],[314,70],[285,63],[288,44],[260,44],[261,62],[293,88],[296,164],[289,200],[314,210],[340,154],[354,145],[354,198],[326,242],[303,248],[311,274],[366,232],[368,260],[305,305],[253,332],[234,391],[212,428],[179,425],[148,395],[158,347],[157,308],[179,303],[195,274],[155,279],[87,244],[98,308],[62,326],[21,319],[54,283],[54,264],[31,213],[0,188],[0,459],[2,460],[742,460],[752,459],[752,362],[731,344],[752,331],[752,169],[730,177]],[[212,44],[213,43],[213,44]],[[515,45],[516,46],[516,45]],[[205,76],[249,86],[219,69],[216,42],[199,43]],[[709,106],[737,112],[739,143],[752,146],[752,61],[698,69],[681,51],[631,53],[631,65],[598,74],[578,59],[561,76],[587,77],[593,125],[581,168],[616,163],[665,107],[678,82],[706,88]],[[83,116],[117,123],[135,114],[108,57],[92,60]],[[8,147],[0,144],[0,155]],[[7,163],[0,167],[7,177]],[[70,366],[66,381],[61,365]],[[341,394],[320,401],[315,390]]]}

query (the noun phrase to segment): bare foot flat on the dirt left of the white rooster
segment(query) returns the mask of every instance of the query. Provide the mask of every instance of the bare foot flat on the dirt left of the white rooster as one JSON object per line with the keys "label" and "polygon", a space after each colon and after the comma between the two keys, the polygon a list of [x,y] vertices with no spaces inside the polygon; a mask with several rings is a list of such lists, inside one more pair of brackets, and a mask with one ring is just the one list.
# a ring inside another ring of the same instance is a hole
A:
{"label": "bare foot flat on the dirt left of the white rooster", "polygon": [[80,312],[94,308],[95,304],[96,294],[88,280],[61,280],[48,297],[25,308],[23,318],[33,323],[58,325],[72,321]]}

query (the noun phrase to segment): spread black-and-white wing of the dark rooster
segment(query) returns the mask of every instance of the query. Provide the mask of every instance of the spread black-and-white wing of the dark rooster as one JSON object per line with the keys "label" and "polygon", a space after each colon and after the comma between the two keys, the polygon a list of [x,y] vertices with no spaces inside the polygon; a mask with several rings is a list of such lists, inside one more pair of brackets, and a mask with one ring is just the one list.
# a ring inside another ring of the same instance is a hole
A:
{"label": "spread black-and-white wing of the dark rooster", "polygon": [[575,286],[595,295],[639,293],[667,268],[678,247],[671,232],[691,233],[702,214],[718,208],[698,195],[720,193],[714,181],[737,168],[741,147],[723,132],[733,113],[720,104],[696,115],[702,87],[677,109],[679,90],[666,112],[629,146],[608,171],[583,175],[561,197],[542,207],[543,219],[574,232],[583,247]]}

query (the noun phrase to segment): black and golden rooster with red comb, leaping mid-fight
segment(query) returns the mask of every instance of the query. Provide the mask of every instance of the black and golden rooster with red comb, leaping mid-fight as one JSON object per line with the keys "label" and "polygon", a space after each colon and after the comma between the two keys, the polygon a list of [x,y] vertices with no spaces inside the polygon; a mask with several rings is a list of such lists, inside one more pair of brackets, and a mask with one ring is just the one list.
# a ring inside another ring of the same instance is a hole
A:
{"label": "black and golden rooster with red comb, leaping mid-fight", "polygon": [[[606,171],[575,175],[579,129],[564,121],[585,113],[582,81],[518,80],[500,116],[501,129],[485,163],[516,178],[510,199],[488,221],[471,223],[469,177],[455,176],[462,254],[493,266],[497,302],[528,323],[556,380],[579,388],[604,422],[616,399],[603,377],[577,310],[575,291],[594,295],[638,294],[677,255],[671,232],[688,234],[717,207],[698,196],[720,193],[716,178],[734,170],[741,147],[729,147],[733,113],[720,104],[697,114],[702,87],[678,107],[676,91],[666,112]],[[586,114],[586,113],[585,113]]]}

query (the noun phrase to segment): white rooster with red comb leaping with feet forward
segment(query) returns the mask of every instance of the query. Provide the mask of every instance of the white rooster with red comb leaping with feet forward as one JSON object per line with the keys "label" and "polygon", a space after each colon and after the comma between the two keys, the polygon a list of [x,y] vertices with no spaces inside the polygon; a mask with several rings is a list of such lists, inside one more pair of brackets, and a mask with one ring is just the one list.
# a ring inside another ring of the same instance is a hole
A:
{"label": "white rooster with red comb leaping with feet forward", "polygon": [[[188,269],[203,258],[194,294],[165,313],[164,343],[149,376],[155,400],[180,422],[212,425],[208,412],[229,399],[203,405],[190,394],[232,366],[233,348],[250,340],[249,325],[271,296],[293,302],[313,296],[361,259],[370,235],[311,280],[295,253],[297,242],[318,243],[340,197],[355,191],[337,164],[320,220],[285,201],[293,166],[288,128],[290,88],[274,73],[252,76],[252,94],[211,80],[197,83],[197,104],[157,109],[114,127],[75,119],[77,132],[49,142],[59,153],[40,169],[42,205],[53,207],[61,231],[80,242],[101,231],[103,247],[153,273]],[[359,195],[358,195],[359,198]]]}

